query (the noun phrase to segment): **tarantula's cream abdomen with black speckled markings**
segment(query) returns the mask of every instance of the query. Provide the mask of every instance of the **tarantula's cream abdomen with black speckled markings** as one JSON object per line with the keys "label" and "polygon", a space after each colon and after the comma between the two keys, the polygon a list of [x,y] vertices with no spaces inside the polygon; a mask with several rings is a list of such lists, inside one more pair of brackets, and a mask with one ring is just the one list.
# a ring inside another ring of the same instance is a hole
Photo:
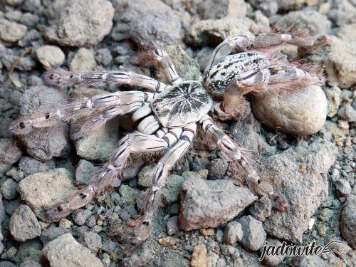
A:
{"label": "tarantula's cream abdomen with black speckled markings", "polygon": [[250,70],[262,70],[269,66],[268,58],[263,53],[241,52],[226,56],[212,66],[205,74],[203,83],[209,93],[222,100],[224,90],[230,81],[241,73]]}

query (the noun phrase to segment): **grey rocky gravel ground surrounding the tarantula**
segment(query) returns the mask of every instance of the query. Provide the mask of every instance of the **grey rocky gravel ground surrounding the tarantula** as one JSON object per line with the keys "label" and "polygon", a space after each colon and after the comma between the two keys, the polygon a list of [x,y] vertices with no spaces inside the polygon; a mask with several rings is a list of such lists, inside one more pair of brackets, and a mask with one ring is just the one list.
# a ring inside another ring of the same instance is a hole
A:
{"label": "grey rocky gravel ground surrounding the tarantula", "polygon": [[[14,138],[9,124],[20,115],[117,90],[51,88],[41,80],[44,70],[150,74],[132,59],[142,48],[161,47],[181,77],[197,79],[224,38],[295,25],[330,36],[332,45],[315,51],[282,48],[322,65],[326,85],[249,96],[254,116],[219,124],[257,157],[261,172],[286,196],[288,211],[274,211],[268,198],[236,187],[219,150],[194,147],[169,175],[153,234],[130,257],[122,249],[153,162],[132,162],[124,182],[115,180],[66,219],[45,221],[46,209],[87,184],[132,126],[122,117],[80,140],[70,140],[68,125]],[[1,1],[0,267],[356,266],[355,28],[355,0]],[[335,248],[345,258],[271,256],[261,263],[266,241],[343,241]]]}

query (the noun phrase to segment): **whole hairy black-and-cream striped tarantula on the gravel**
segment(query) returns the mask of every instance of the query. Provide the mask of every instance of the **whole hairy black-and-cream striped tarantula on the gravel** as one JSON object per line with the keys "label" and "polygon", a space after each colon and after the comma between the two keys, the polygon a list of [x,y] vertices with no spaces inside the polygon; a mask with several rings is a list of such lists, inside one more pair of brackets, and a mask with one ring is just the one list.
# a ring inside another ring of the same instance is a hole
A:
{"label": "whole hairy black-and-cream striped tarantula on the gravel", "polygon": [[[90,184],[75,192],[67,202],[54,205],[47,211],[49,221],[58,221],[88,204],[95,194],[102,192],[133,155],[144,155],[165,150],[152,175],[152,187],[140,199],[143,214],[135,229],[127,251],[142,244],[152,231],[157,210],[162,203],[162,188],[169,171],[189,150],[197,127],[216,142],[222,155],[229,161],[234,177],[246,182],[258,196],[267,195],[273,207],[286,211],[286,199],[273,189],[267,179],[258,174],[245,150],[214,123],[214,118],[228,120],[241,115],[241,95],[250,92],[276,92],[303,88],[312,83],[322,83],[320,73],[296,67],[273,51],[283,43],[311,47],[326,43],[326,36],[311,38],[293,34],[264,33],[256,36],[232,36],[217,46],[201,80],[183,81],[174,69],[171,59],[163,50],[147,53],[145,58],[155,63],[167,84],[132,72],[121,70],[91,73],[72,73],[49,70],[43,74],[48,85],[129,85],[145,91],[117,91],[95,95],[56,110],[38,112],[12,123],[15,135],[26,135],[33,128],[48,127],[58,122],[71,122],[87,118],[73,138],[95,131],[108,120],[132,113],[137,131],[120,140],[108,163],[90,179]],[[214,98],[214,100],[213,100]]]}

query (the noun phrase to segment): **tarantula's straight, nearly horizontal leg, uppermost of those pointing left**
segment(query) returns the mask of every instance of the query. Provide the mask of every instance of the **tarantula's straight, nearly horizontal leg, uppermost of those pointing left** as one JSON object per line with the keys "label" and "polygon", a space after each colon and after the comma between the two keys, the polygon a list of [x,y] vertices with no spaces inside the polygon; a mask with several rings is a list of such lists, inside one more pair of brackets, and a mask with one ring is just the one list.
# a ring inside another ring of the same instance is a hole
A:
{"label": "tarantula's straight, nearly horizontal leg, uppermost of those pointing left", "polygon": [[130,85],[152,92],[162,91],[166,85],[146,75],[121,70],[100,70],[89,73],[73,73],[67,70],[48,70],[42,76],[48,85]]}

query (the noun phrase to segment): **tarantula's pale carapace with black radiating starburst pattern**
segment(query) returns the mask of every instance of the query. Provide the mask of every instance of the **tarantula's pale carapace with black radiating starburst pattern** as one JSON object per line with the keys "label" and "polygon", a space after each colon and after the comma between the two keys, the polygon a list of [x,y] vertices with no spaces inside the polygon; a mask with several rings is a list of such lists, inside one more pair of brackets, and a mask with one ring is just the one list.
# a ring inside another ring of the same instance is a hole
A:
{"label": "tarantula's pale carapace with black radiating starburst pattern", "polygon": [[182,127],[206,115],[213,100],[201,83],[184,81],[167,88],[151,103],[152,111],[164,127]]}

